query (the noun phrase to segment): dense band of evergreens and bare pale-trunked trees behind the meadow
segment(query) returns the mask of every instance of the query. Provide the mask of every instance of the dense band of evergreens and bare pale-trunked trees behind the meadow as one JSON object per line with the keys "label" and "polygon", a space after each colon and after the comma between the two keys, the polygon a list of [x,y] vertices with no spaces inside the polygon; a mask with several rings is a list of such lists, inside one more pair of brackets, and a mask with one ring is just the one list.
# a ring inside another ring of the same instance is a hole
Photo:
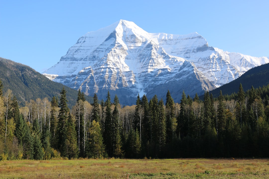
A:
{"label": "dense band of evergreens and bare pale-trunked trees behind the meadow", "polygon": [[[60,97],[30,100],[19,107],[0,81],[0,160],[51,158],[187,158],[268,157],[269,86],[236,99],[205,92],[201,100],[182,93],[175,103],[155,95],[137,96],[136,105],[121,106],[109,91],[93,103],[77,94],[68,108]],[[233,95],[235,96],[235,95]]]}

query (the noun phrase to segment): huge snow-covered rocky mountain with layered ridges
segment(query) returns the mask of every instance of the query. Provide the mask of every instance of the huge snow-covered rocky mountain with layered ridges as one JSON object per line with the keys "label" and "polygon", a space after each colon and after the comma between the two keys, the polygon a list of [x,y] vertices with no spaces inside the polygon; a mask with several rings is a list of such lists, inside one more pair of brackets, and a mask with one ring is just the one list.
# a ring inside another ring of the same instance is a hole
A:
{"label": "huge snow-covered rocky mountain with layered ridges", "polygon": [[120,103],[135,104],[143,94],[165,100],[167,90],[180,102],[183,90],[194,96],[241,76],[250,68],[269,63],[268,57],[251,57],[208,46],[195,33],[151,34],[120,20],[88,32],[65,56],[43,74],[87,95],[106,99],[107,90]]}

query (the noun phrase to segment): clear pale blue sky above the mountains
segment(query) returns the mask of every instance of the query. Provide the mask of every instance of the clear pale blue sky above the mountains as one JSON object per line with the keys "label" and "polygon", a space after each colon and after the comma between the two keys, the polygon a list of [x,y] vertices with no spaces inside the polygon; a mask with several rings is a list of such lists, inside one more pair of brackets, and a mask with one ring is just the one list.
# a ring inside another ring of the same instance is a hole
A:
{"label": "clear pale blue sky above the mountains", "polygon": [[43,72],[77,40],[120,19],[147,32],[197,32],[228,52],[269,56],[268,0],[0,0],[0,57]]}

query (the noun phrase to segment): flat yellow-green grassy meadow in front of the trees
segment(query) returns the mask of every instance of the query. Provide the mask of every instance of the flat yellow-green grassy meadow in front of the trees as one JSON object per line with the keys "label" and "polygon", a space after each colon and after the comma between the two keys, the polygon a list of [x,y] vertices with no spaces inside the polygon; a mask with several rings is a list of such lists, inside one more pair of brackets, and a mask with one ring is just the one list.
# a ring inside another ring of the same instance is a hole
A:
{"label": "flat yellow-green grassy meadow in front of the trees", "polygon": [[268,178],[269,159],[76,159],[0,162],[0,178]]}

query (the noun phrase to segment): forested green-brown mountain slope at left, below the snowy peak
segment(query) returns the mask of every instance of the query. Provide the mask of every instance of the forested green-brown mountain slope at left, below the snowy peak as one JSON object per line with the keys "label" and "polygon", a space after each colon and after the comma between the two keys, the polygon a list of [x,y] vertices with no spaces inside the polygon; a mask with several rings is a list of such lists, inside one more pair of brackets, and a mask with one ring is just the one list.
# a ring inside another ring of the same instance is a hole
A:
{"label": "forested green-brown mountain slope at left, below the snowy peak", "polygon": [[[49,80],[29,66],[1,57],[0,79],[3,83],[3,94],[7,89],[11,89],[20,105],[24,105],[25,101],[36,100],[37,98],[47,97],[51,101],[53,96],[60,97],[60,92],[64,86],[61,83]],[[67,86],[64,87],[68,106],[72,107],[76,103],[78,92]],[[91,101],[92,99],[87,97],[87,100]]]}

